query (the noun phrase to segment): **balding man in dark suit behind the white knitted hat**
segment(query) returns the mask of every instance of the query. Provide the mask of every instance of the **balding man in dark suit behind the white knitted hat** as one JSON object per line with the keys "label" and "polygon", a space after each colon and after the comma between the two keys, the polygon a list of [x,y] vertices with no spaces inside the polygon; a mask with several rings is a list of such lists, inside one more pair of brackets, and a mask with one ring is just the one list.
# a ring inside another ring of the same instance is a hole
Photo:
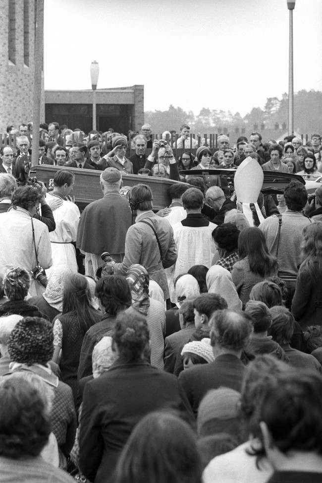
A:
{"label": "balding man in dark suit behind the white knitted hat", "polygon": [[249,315],[232,310],[217,310],[209,325],[215,361],[197,364],[179,375],[179,383],[196,415],[201,400],[210,389],[223,386],[241,390],[245,366],[240,357],[253,330]]}

